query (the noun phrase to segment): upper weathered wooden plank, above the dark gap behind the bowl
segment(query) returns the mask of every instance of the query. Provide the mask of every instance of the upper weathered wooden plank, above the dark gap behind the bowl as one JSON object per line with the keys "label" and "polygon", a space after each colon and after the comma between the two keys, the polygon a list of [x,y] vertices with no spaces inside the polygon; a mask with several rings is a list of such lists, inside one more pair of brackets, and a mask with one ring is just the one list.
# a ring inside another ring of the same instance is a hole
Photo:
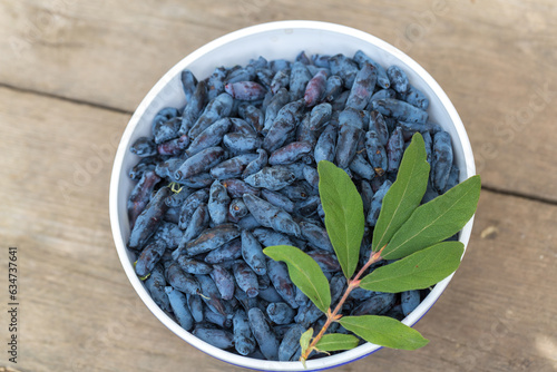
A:
{"label": "upper weathered wooden plank, above the dark gap behind the bowl", "polygon": [[557,200],[551,0],[2,1],[0,84],[131,111],[194,49],[282,19],[352,26],[408,52],[453,100],[485,184]]}

